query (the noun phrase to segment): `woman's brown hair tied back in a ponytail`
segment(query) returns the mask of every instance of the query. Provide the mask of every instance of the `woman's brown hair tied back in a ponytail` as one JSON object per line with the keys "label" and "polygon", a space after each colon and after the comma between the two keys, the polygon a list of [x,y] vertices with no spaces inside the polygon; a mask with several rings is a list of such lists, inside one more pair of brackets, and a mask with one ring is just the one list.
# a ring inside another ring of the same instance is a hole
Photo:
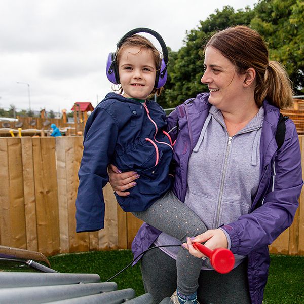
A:
{"label": "woman's brown hair tied back in a ponytail", "polygon": [[205,46],[213,47],[229,59],[239,74],[248,68],[256,72],[254,98],[258,107],[264,99],[283,109],[292,106],[291,83],[284,67],[269,61],[268,49],[258,32],[247,26],[234,26],[214,34]]}

